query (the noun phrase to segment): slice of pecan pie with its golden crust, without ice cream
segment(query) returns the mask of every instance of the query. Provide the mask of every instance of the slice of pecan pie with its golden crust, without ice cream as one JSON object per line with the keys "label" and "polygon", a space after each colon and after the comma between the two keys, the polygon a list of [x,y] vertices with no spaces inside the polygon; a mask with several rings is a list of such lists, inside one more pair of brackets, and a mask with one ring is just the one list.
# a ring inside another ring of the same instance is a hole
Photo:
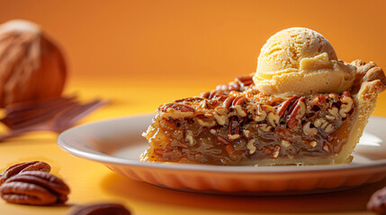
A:
{"label": "slice of pecan pie with its golden crust, without ice cream", "polygon": [[[314,56],[328,56],[323,55]],[[320,62],[317,59],[317,63]],[[333,63],[328,68],[337,63],[339,68],[346,66],[353,73],[352,80],[347,81],[348,87],[338,82],[337,89],[329,92],[308,91],[301,86],[306,90],[295,93],[294,88],[292,93],[280,90],[264,93],[265,89],[278,88],[266,84],[262,88],[256,73],[238,76],[234,82],[198,97],[161,105],[144,133],[149,147],[141,160],[214,165],[351,162],[351,153],[373,111],[377,95],[386,89],[386,78],[373,62],[356,60],[343,64],[334,60]],[[301,67],[305,63],[299,64]],[[320,73],[319,65],[315,67]],[[320,81],[330,82],[327,80]]]}

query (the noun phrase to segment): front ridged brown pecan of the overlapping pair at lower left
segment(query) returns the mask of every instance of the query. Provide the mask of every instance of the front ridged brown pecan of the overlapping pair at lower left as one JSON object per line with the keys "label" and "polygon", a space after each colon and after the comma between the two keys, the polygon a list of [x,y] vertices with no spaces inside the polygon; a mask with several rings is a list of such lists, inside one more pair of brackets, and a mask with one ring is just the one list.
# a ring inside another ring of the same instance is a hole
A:
{"label": "front ridged brown pecan of the overlapping pair at lower left", "polygon": [[68,186],[62,179],[42,171],[26,171],[12,176],[0,186],[6,202],[49,205],[67,201]]}

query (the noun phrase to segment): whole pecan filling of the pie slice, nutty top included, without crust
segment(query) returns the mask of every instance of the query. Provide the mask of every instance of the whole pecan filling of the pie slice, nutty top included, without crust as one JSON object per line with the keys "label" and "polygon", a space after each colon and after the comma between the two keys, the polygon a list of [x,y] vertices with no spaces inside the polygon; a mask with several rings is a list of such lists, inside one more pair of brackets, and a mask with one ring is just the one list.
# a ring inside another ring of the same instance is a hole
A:
{"label": "whole pecan filling of the pie slice, nutty top included, without crust", "polygon": [[348,91],[273,97],[254,90],[252,76],[240,76],[200,97],[158,107],[141,159],[250,165],[334,157],[347,141],[355,107]]}

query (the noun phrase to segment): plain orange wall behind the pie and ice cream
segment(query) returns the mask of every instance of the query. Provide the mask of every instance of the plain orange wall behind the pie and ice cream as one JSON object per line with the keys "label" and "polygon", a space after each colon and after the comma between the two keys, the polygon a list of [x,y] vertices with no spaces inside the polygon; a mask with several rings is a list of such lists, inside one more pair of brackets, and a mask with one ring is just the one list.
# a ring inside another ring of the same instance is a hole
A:
{"label": "plain orange wall behind the pie and ice cream", "polygon": [[322,2],[8,0],[0,1],[0,22],[39,23],[67,54],[70,82],[102,77],[210,90],[256,71],[266,39],[296,26],[319,31],[340,59],[386,67],[386,2]]}

